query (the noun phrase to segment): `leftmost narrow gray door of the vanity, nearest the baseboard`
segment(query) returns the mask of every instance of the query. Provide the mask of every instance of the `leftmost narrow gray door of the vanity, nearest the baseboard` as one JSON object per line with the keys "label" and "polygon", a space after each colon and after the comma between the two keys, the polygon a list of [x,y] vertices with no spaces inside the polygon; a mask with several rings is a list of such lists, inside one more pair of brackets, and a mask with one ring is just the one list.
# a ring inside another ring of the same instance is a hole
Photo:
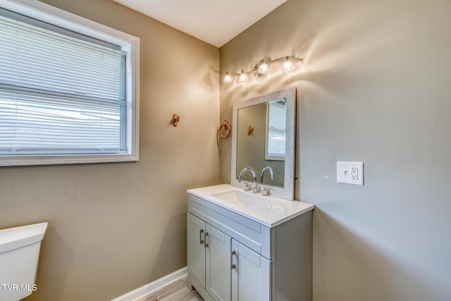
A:
{"label": "leftmost narrow gray door of the vanity, nearest the baseboard", "polygon": [[187,267],[190,274],[205,288],[205,222],[187,214]]}

